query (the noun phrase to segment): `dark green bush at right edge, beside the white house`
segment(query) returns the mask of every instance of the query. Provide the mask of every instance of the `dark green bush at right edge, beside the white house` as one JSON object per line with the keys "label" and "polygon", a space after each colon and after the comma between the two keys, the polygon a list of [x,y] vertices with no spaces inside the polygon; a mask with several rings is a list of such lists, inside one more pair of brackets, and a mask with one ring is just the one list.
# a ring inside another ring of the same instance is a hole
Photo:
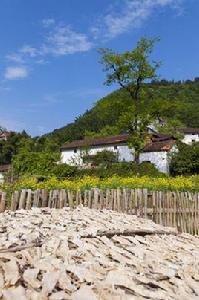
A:
{"label": "dark green bush at right edge, beside the white house", "polygon": [[199,143],[192,146],[179,143],[178,152],[172,155],[170,171],[172,175],[199,174]]}

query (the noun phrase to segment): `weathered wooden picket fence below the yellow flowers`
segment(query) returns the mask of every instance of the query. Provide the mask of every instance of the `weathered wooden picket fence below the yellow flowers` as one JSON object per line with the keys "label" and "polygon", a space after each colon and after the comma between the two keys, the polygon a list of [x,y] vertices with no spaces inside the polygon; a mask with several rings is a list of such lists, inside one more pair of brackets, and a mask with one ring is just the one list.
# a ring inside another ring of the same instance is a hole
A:
{"label": "weathered wooden picket fence below the yellow flowers", "polygon": [[85,191],[24,189],[15,191],[9,200],[6,193],[0,192],[0,212],[31,207],[76,207],[80,204],[135,214],[164,226],[176,227],[180,232],[199,235],[199,193],[127,188]]}

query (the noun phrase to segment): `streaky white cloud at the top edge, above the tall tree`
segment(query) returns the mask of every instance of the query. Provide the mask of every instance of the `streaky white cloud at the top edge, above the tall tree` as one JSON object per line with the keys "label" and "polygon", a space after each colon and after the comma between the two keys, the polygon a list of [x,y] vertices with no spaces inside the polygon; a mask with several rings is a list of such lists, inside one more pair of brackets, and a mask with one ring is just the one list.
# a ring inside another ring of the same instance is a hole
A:
{"label": "streaky white cloud at the top edge, above the tall tree", "polygon": [[91,28],[95,38],[103,36],[111,39],[137,28],[146,21],[157,8],[180,8],[183,0],[123,0],[122,6],[116,11],[101,17],[98,25]]}

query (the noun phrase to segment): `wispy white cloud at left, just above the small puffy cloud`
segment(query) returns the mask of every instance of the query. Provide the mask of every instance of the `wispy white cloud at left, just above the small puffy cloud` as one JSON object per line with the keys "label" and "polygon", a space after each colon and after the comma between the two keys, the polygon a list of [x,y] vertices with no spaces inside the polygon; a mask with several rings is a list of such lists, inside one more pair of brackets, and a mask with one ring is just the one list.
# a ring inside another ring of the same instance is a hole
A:
{"label": "wispy white cloud at left, just above the small puffy cloud", "polygon": [[[47,27],[50,25],[52,28],[49,30]],[[86,52],[92,48],[92,43],[86,34],[76,32],[67,25],[55,25],[54,19],[43,20],[43,26],[48,31],[40,46],[26,44],[15,53],[8,54],[7,60],[17,64],[44,64],[50,56]]]}

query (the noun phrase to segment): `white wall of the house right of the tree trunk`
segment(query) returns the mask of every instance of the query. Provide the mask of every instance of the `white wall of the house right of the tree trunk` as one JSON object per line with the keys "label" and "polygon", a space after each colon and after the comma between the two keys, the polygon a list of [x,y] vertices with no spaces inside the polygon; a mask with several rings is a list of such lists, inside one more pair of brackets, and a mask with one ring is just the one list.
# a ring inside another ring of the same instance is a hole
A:
{"label": "white wall of the house right of the tree trunk", "polygon": [[140,163],[144,161],[150,161],[160,172],[169,172],[169,159],[167,152],[143,152],[140,154]]}

